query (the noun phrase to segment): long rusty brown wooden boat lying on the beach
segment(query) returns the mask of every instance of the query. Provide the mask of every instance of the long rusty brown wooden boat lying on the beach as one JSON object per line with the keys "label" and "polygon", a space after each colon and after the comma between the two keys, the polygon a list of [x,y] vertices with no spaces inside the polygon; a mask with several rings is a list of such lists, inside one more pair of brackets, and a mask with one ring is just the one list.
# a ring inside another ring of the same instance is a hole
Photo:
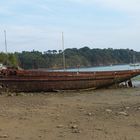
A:
{"label": "long rusty brown wooden boat lying on the beach", "polygon": [[127,82],[140,70],[96,72],[45,72],[4,69],[0,71],[1,91],[41,92],[59,90],[97,89]]}

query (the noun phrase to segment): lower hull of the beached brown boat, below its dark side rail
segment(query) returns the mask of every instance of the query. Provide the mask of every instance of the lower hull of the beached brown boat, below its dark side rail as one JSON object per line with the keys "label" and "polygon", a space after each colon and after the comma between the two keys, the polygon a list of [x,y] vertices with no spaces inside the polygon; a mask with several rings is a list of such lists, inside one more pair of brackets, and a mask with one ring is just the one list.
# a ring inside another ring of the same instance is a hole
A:
{"label": "lower hull of the beached brown boat, below its dark side rail", "polygon": [[[127,79],[125,79],[127,80]],[[129,79],[128,79],[129,80]],[[120,81],[121,82],[121,81]],[[123,82],[123,80],[122,80]],[[114,80],[81,80],[81,81],[45,81],[45,80],[20,80],[20,81],[3,81],[2,88],[11,92],[40,92],[40,91],[59,91],[59,90],[80,90],[80,89],[97,89],[109,87],[118,84]]]}

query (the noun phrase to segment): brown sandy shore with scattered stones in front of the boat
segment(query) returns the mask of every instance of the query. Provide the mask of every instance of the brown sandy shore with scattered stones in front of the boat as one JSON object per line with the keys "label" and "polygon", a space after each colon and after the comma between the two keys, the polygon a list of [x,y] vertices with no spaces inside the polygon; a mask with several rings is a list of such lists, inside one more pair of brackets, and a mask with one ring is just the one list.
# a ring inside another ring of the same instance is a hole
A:
{"label": "brown sandy shore with scattered stones in front of the boat", "polygon": [[140,88],[0,96],[0,140],[139,140]]}

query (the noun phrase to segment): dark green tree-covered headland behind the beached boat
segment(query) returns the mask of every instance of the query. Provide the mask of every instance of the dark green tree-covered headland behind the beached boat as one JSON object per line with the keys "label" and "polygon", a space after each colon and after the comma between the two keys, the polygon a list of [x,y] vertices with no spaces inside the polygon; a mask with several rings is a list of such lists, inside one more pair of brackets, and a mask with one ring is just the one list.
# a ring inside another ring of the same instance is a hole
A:
{"label": "dark green tree-covered headland behind the beached boat", "polygon": [[[20,66],[24,69],[36,68],[63,68],[62,50],[23,51],[21,53],[10,53],[8,55],[0,53],[0,63],[10,66]],[[92,67],[116,64],[129,64],[135,61],[140,62],[140,52],[130,49],[90,49],[83,47],[65,50],[66,67]]]}

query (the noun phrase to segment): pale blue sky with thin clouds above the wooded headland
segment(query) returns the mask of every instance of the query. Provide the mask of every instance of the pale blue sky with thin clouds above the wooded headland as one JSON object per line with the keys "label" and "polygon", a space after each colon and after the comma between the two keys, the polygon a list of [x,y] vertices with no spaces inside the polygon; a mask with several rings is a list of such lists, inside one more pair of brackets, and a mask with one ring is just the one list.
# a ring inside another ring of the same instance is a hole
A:
{"label": "pale blue sky with thin clouds above the wooded headland", "polygon": [[0,51],[140,51],[140,0],[0,0]]}

